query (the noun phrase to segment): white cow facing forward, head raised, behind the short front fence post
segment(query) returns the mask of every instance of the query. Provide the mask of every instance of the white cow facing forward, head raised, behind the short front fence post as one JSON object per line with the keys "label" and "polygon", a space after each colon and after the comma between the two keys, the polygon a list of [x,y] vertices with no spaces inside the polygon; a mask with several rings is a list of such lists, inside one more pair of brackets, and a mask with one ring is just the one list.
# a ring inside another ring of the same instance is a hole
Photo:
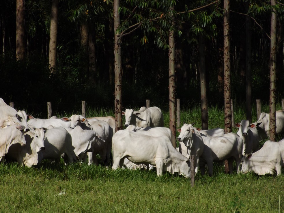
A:
{"label": "white cow facing forward, head raised, behind the short front fence post", "polygon": [[[194,123],[193,123],[194,124]],[[195,173],[198,171],[199,158],[203,153],[204,143],[198,130],[195,130],[192,124],[184,124],[181,129],[177,129],[180,132],[177,141],[179,143],[179,151],[187,158],[190,155],[194,155],[194,167]]]}

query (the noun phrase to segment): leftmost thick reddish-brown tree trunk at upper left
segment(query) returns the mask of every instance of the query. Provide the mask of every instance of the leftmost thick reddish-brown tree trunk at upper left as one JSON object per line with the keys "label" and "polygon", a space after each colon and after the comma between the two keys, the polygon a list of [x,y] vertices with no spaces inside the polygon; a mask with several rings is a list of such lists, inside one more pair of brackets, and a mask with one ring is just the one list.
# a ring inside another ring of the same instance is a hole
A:
{"label": "leftmost thick reddish-brown tree trunk at upper left", "polygon": [[25,59],[25,1],[17,0],[16,3],[16,59]]}

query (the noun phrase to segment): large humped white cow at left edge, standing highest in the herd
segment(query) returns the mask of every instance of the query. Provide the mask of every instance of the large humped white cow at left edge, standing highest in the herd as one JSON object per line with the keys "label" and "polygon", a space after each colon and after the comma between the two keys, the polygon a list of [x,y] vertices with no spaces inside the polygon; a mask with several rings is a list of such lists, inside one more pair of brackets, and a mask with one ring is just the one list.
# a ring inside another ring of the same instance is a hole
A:
{"label": "large humped white cow at left edge, standing highest in the herd", "polygon": [[0,98],[0,115],[0,128],[5,128],[8,125],[19,124],[25,126],[25,132],[29,130],[26,112],[16,110],[7,105],[2,98]]}

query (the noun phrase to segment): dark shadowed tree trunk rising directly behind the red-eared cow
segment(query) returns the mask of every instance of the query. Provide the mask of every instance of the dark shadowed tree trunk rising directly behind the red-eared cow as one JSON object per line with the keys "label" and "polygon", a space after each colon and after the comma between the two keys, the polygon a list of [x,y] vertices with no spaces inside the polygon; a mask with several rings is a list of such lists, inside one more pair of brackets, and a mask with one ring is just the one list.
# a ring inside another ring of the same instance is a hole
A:
{"label": "dark shadowed tree trunk rising directly behind the red-eared cow", "polygon": [[[246,3],[247,10],[249,3]],[[246,119],[251,123],[251,17],[246,16]]]}

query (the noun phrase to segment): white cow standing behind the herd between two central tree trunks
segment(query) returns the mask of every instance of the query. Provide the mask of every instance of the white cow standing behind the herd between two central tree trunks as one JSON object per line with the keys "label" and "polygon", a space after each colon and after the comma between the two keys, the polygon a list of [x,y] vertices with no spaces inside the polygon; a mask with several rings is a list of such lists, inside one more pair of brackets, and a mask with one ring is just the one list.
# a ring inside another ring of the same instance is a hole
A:
{"label": "white cow standing behind the herd between two central tree trunks", "polygon": [[143,106],[139,111],[133,111],[133,109],[126,109],[122,112],[125,115],[125,126],[132,124],[134,126],[143,127],[163,127],[164,117],[160,108],[153,106],[148,109]]}

